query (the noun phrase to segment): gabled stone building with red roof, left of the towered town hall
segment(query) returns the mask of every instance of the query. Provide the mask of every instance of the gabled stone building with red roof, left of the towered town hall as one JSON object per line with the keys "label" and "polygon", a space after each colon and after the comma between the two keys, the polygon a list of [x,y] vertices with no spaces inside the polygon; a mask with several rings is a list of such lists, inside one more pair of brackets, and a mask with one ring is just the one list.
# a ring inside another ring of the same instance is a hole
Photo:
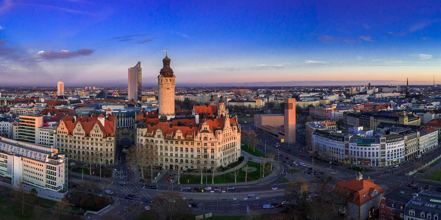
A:
{"label": "gabled stone building with red roof, left of the towered town hall", "polygon": [[115,162],[116,116],[64,117],[56,128],[56,148],[73,161]]}

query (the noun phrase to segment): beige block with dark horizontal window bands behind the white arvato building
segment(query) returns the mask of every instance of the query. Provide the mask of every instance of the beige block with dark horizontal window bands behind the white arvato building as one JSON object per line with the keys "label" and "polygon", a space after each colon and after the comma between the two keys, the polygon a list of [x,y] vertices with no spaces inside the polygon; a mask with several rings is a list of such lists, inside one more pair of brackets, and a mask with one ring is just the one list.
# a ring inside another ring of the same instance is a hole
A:
{"label": "beige block with dark horizontal window bands behind the white arvato building", "polygon": [[43,115],[39,113],[20,115],[18,140],[27,143],[38,143],[38,128],[42,125]]}

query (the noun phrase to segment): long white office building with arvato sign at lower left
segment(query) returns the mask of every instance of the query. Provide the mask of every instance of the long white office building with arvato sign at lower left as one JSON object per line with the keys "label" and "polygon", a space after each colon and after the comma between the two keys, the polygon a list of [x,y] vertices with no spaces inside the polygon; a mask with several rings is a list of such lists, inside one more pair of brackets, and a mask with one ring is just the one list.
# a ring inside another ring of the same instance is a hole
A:
{"label": "long white office building with arvato sign at lower left", "polygon": [[11,178],[13,187],[24,183],[40,197],[60,199],[67,192],[67,158],[56,149],[1,138],[0,176]]}

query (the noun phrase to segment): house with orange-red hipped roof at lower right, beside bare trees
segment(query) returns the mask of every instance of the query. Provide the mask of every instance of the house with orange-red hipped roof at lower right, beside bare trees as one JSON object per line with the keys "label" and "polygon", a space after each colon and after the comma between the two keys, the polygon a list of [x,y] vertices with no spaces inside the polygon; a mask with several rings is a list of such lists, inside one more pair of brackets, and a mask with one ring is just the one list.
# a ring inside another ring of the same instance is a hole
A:
{"label": "house with orange-red hipped roof at lower right, beside bare trees", "polygon": [[363,180],[363,175],[360,172],[352,180],[338,182],[334,188],[334,194],[346,198],[344,204],[345,217],[357,220],[374,216],[384,193],[385,191],[369,177]]}

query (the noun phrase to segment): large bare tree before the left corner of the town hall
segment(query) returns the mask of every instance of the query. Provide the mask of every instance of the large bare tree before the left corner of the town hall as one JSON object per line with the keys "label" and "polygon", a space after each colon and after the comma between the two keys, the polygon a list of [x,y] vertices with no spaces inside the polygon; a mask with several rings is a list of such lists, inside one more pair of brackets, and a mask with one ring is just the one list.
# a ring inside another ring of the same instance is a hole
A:
{"label": "large bare tree before the left corner of the town hall", "polygon": [[149,166],[153,166],[153,161],[157,155],[156,146],[146,140],[144,143],[138,143],[137,146],[131,145],[126,153],[127,166],[139,167],[141,170],[141,178],[144,178],[144,170]]}

